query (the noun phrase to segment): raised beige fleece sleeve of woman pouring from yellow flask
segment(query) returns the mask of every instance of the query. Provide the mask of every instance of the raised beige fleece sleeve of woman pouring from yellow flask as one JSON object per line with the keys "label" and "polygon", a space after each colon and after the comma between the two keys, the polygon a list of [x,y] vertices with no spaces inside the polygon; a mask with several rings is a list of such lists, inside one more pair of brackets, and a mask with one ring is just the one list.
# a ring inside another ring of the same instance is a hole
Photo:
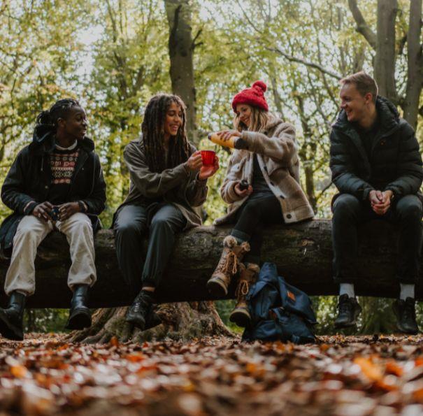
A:
{"label": "raised beige fleece sleeve of woman pouring from yellow flask", "polygon": [[241,138],[250,152],[266,155],[285,166],[295,163],[295,127],[290,123],[282,123],[272,137],[255,131],[243,131]]}

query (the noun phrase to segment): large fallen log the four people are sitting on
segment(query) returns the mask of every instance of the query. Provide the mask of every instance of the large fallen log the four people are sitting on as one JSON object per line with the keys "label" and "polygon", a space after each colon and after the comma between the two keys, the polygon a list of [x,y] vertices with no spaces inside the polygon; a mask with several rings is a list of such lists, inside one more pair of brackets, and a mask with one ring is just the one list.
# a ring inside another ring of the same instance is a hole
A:
{"label": "large fallen log the four people are sitting on", "polygon": [[[206,301],[213,299],[206,290],[222,250],[229,227],[198,227],[180,234],[163,284],[157,289],[159,302]],[[359,232],[356,292],[361,296],[396,297],[395,279],[397,230],[375,221]],[[113,232],[96,234],[98,281],[90,293],[92,308],[127,306],[134,299],[117,266]],[[146,252],[146,243],[143,253]],[[313,220],[289,226],[278,225],[264,231],[263,261],[272,261],[286,280],[310,295],[334,295],[338,287],[331,278],[331,222]],[[66,285],[70,265],[69,245],[62,234],[50,234],[38,248],[36,294],[28,299],[29,308],[68,308],[71,292]],[[8,260],[0,259],[0,285],[3,288]],[[234,297],[234,285],[228,298]],[[422,299],[423,290],[417,288]],[[4,305],[6,296],[0,296]]]}

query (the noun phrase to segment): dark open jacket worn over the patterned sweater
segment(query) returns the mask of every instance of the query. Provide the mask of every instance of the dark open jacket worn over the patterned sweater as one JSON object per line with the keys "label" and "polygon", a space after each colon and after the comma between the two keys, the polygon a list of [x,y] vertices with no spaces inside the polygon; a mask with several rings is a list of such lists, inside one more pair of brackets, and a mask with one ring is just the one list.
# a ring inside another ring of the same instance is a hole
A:
{"label": "dark open jacket worn over the patterned sweater", "polygon": [[[79,156],[73,172],[67,201],[83,201],[88,207],[94,231],[101,226],[97,215],[106,203],[106,182],[99,156],[94,152],[90,138],[78,141]],[[1,200],[13,213],[0,227],[0,245],[3,252],[10,254],[17,225],[24,215],[31,215],[38,203],[47,200],[52,173],[50,154],[55,149],[55,138],[48,127],[36,127],[32,143],[17,154],[3,186]]]}

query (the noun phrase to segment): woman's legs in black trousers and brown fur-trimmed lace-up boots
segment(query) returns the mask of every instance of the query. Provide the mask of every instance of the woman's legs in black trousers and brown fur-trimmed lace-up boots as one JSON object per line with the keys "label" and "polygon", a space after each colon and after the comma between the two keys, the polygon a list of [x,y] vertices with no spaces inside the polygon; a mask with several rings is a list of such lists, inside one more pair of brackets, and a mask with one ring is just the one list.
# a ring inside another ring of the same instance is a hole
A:
{"label": "woman's legs in black trousers and brown fur-trimmed lace-up boots", "polygon": [[263,226],[281,222],[280,203],[273,195],[252,194],[238,209],[235,220],[231,234],[224,238],[220,261],[207,282],[207,288],[214,296],[225,296],[232,278],[239,275],[236,288],[237,303],[229,320],[239,327],[247,327],[250,323],[250,313],[246,296],[250,285],[257,280],[260,270]]}

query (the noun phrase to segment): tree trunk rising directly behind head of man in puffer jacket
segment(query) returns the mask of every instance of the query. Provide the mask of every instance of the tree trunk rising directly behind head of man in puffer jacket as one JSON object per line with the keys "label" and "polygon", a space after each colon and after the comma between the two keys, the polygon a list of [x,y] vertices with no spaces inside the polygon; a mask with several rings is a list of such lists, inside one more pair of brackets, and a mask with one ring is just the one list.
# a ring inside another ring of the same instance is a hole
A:
{"label": "tree trunk rising directly behind head of man in puffer jacket", "polygon": [[395,17],[396,0],[378,0],[375,80],[379,94],[397,103],[395,86]]}

